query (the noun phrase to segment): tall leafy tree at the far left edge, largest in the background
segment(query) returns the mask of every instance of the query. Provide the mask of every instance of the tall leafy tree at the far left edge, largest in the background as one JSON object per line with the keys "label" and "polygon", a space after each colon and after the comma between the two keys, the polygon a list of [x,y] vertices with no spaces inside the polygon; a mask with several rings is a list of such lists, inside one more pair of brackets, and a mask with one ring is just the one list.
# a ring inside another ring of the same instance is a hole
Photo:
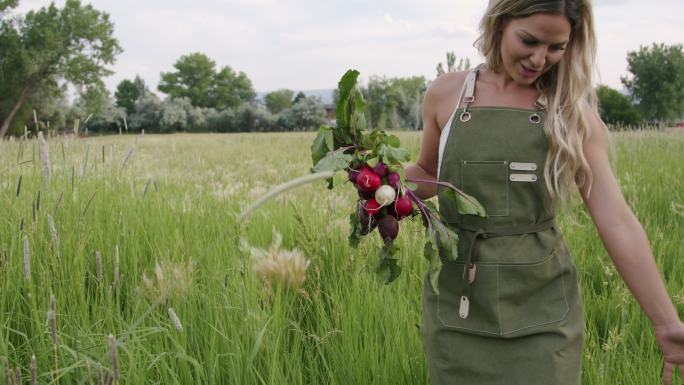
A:
{"label": "tall leafy tree at the far left edge, largest in the background", "polygon": [[113,29],[108,14],[79,0],[0,19],[0,137],[36,88],[57,78],[88,86],[111,74],[106,65],[121,52]]}

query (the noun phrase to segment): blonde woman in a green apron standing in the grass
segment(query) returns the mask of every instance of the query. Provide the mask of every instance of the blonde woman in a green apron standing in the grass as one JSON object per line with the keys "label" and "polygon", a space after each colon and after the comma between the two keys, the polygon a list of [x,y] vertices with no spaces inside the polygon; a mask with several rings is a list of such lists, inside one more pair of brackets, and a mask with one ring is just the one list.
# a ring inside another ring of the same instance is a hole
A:
{"label": "blonde woman in a green apron standing in the grass", "polygon": [[[611,172],[591,73],[589,0],[491,0],[476,43],[485,64],[436,79],[409,179],[440,179],[488,217],[440,212],[460,234],[439,294],[426,279],[422,333],[433,384],[576,385],[584,312],[577,271],[555,223],[573,185],[664,354],[663,382],[684,373],[684,324],[644,231]],[[458,92],[460,90],[460,93]]]}

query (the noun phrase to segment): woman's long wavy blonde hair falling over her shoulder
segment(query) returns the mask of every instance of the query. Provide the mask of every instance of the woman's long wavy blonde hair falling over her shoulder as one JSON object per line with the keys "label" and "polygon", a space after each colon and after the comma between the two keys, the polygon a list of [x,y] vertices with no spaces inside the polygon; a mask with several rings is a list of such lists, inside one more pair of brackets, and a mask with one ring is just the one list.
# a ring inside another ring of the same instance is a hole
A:
{"label": "woman's long wavy blonde hair falling over her shoulder", "polygon": [[[553,203],[569,203],[573,184],[589,184],[593,176],[582,151],[590,134],[582,111],[597,111],[596,92],[592,86],[595,68],[596,36],[591,0],[490,0],[480,22],[480,36],[475,47],[488,68],[503,71],[501,28],[510,18],[536,13],[560,14],[572,28],[563,58],[537,79],[535,86],[545,99],[544,129],[549,138],[544,177]],[[607,131],[605,124],[601,129]]]}

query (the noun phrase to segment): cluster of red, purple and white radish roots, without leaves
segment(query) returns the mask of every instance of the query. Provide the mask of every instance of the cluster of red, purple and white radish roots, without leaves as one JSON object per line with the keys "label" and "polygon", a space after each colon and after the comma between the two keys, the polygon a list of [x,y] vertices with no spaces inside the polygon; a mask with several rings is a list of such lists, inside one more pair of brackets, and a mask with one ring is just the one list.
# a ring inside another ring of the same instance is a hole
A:
{"label": "cluster of red, purple and white radish roots, without leaves", "polygon": [[413,213],[413,202],[406,196],[401,176],[383,162],[372,168],[368,164],[350,168],[348,175],[359,193],[356,214],[361,234],[377,227],[384,242],[393,241],[399,233],[399,221]]}

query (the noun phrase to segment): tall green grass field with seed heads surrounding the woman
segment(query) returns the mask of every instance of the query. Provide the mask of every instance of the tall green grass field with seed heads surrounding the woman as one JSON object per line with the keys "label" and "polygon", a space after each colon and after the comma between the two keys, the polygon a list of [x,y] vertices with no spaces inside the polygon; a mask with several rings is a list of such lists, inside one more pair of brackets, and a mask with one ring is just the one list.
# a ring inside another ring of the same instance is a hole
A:
{"label": "tall green grass field with seed heads surrounding the woman", "polygon": [[[415,159],[420,134],[399,136]],[[614,138],[622,191],[683,314],[684,135]],[[391,285],[372,273],[377,235],[347,244],[350,186],[286,193],[241,230],[254,247],[278,233],[269,252],[298,249],[310,261],[301,289],[269,290],[239,247],[237,215],[307,173],[312,140],[52,138],[48,180],[37,140],[0,142],[0,384],[16,367],[31,383],[33,355],[40,384],[97,384],[98,370],[121,384],[427,384],[419,223],[402,222]],[[583,289],[583,384],[659,384],[650,322],[586,209],[559,224]]]}

